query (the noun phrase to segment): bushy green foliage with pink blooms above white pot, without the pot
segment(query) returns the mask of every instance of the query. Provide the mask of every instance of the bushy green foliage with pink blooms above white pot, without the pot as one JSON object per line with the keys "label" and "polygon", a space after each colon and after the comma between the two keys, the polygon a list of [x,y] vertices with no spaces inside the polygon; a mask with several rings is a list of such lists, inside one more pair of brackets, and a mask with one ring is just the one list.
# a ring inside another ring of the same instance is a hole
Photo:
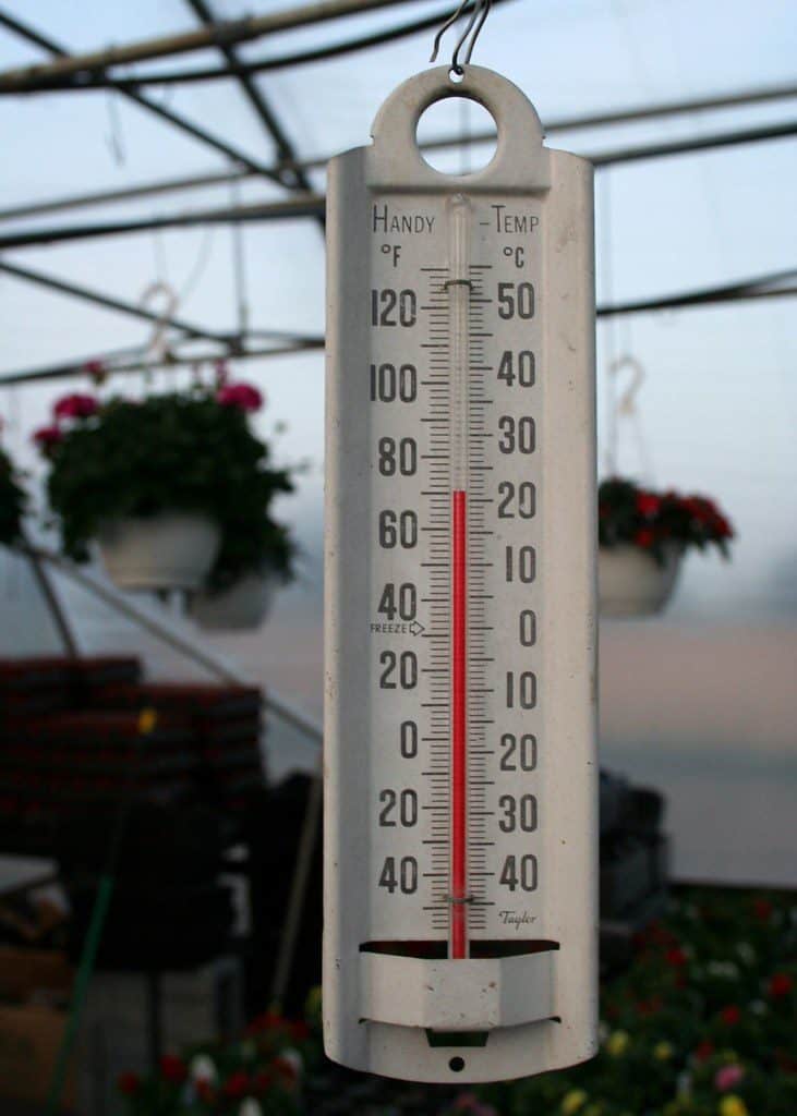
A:
{"label": "bushy green foliage with pink blooms above white pot, without the pot", "polygon": [[290,577],[295,545],[270,507],[278,493],[294,490],[291,471],[276,469],[269,446],[251,431],[253,406],[241,405],[229,387],[204,386],[94,407],[85,400],[66,407],[70,398],[56,406],[68,424],[48,427],[58,436],[37,435],[50,461],[47,490],[69,557],[85,560],[109,520],[198,512],[222,537],[210,588],[266,568]]}

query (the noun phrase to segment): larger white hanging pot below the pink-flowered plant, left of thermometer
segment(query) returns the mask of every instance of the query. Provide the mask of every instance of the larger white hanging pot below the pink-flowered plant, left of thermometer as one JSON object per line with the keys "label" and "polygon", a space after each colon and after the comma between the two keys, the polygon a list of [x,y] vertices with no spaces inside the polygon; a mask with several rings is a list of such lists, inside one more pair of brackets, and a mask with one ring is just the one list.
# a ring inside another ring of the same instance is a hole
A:
{"label": "larger white hanging pot below the pink-flowered plant, left of thermometer", "polygon": [[213,565],[221,532],[208,516],[161,512],[109,520],[97,541],[121,589],[195,589]]}

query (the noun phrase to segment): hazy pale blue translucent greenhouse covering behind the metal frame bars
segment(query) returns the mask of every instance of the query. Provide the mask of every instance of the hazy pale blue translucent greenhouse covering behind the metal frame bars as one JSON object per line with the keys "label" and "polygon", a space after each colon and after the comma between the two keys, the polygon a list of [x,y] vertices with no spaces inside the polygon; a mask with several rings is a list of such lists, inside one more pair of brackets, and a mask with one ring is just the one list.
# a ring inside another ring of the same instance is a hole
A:
{"label": "hazy pale blue translucent greenhouse covering behind the metal frame bars", "polygon": [[[22,18],[69,50],[147,38],[190,26],[181,0],[108,4],[38,0]],[[247,11],[218,2],[220,16]],[[259,11],[267,6],[260,3]],[[428,3],[280,35],[242,48],[277,56],[348,38],[413,16]],[[662,3],[661,0],[518,0],[493,9],[476,60],[515,80],[544,123],[574,114],[688,99],[794,79],[797,8],[788,0]],[[413,38],[259,79],[301,156],[367,142],[380,104],[426,64],[431,36]],[[0,29],[0,68],[45,55]],[[212,51],[163,62],[194,68]],[[156,68],[159,64],[151,64]],[[153,90],[265,162],[276,153],[233,83]],[[579,154],[678,136],[777,123],[795,99],[692,113],[666,121],[553,134],[550,146]],[[442,118],[441,118],[442,114]],[[441,106],[426,135],[481,127],[476,110]],[[111,93],[0,98],[0,209],[70,193],[221,170],[222,160]],[[480,148],[448,156],[452,169],[477,165]],[[483,157],[483,156],[482,156]],[[311,174],[324,189],[321,172]],[[757,143],[624,164],[596,175],[597,296],[624,301],[733,282],[789,268],[797,233],[794,140]],[[239,187],[242,202],[281,196],[266,181]],[[95,206],[3,222],[7,232],[228,204],[230,187]],[[243,228],[252,326],[320,333],[324,251],[309,220]],[[137,300],[156,279],[182,292],[177,312],[210,328],[234,320],[231,235],[227,228],[115,237],[9,252],[40,269]],[[599,462],[606,452],[607,368],[630,354],[645,379],[638,395],[642,441],[620,444],[620,470],[661,488],[716,498],[738,532],[732,560],[690,554],[662,619],[607,622],[601,632],[602,759],[605,766],[668,795],[668,827],[678,875],[794,883],[797,837],[797,355],[789,299],[645,314],[598,325]],[[150,329],[119,315],[0,275],[0,373],[33,368],[137,345]],[[308,461],[296,496],[280,512],[294,525],[304,558],[299,581],[281,594],[253,636],[210,637],[256,681],[320,714],[323,540],[323,355],[233,366],[257,383],[268,405],[262,433],[278,423],[278,458]],[[153,386],[188,383],[155,373]],[[623,383],[625,383],[623,381]],[[75,379],[0,387],[3,443],[30,470],[41,466],[30,434],[48,421]],[[105,393],[146,389],[119,377]],[[60,584],[60,583],[59,583]],[[86,651],[133,647],[175,673],[162,650],[65,587]],[[18,562],[0,556],[0,654],[55,646],[46,617]],[[275,733],[271,770],[315,761],[298,740]]]}

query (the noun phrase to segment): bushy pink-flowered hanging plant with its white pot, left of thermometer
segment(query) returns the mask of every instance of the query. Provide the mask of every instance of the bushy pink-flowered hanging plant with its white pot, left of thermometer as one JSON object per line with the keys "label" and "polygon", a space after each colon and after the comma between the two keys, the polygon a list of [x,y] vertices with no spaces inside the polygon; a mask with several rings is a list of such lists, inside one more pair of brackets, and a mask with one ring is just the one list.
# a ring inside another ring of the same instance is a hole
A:
{"label": "bushy pink-flowered hanging plant with its white pot, left of thermometer", "polygon": [[35,437],[49,459],[48,496],[66,554],[85,560],[96,540],[125,589],[229,584],[243,568],[242,537],[260,537],[271,498],[292,488],[250,429],[261,405],[247,384],[195,385],[141,402],[61,400],[55,424]]}

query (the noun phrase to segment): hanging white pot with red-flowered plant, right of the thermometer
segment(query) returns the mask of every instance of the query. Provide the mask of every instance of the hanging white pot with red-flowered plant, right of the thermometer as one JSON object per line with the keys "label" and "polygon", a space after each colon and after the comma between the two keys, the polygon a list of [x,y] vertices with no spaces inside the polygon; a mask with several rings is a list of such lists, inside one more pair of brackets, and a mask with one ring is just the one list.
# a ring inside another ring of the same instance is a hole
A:
{"label": "hanging white pot with red-flowered plant, right of the thermometer", "polygon": [[701,496],[653,492],[612,478],[598,489],[598,607],[602,616],[653,616],[672,595],[689,547],[724,558],[733,529]]}

